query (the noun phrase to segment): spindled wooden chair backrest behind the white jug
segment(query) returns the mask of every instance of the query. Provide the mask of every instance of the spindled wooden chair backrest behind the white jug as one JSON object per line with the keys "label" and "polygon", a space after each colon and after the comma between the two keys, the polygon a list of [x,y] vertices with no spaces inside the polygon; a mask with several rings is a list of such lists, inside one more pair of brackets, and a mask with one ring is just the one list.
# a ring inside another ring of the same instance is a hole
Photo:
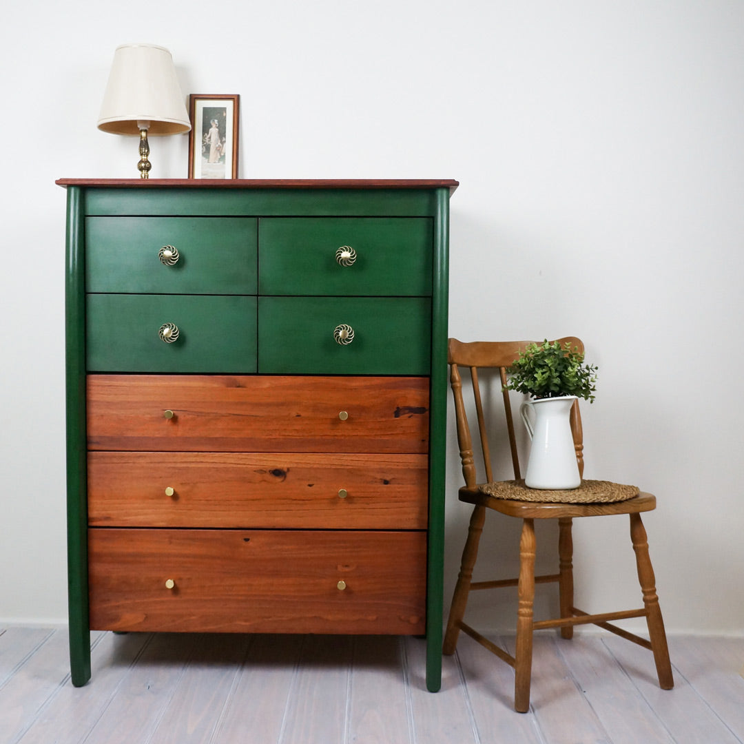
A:
{"label": "spindled wooden chair backrest behind the white jug", "polygon": [[[557,340],[561,345],[570,344],[571,349],[575,347],[583,353],[584,344],[579,339],[574,338],[574,336],[566,336],[563,339]],[[537,341],[537,343],[541,342],[542,341]],[[483,455],[486,479],[487,482],[491,482],[493,481],[493,467],[491,465],[490,448],[488,446],[486,415],[484,414],[481,388],[478,383],[478,370],[498,369],[501,378],[501,385],[503,387],[507,383],[507,368],[509,368],[513,362],[519,358],[519,353],[532,343],[535,342],[472,341],[470,343],[464,343],[463,341],[458,341],[458,339],[449,339],[449,379],[450,384],[452,385],[452,395],[455,397],[455,419],[458,427],[458,446],[460,447],[460,459],[466,486],[475,486],[477,484],[477,476],[475,472],[475,461],[473,458],[473,437],[465,412],[460,368],[469,368],[470,370],[472,392],[475,397],[475,414],[478,418],[478,439],[481,442],[481,453]],[[506,417],[507,433],[509,435],[514,478],[519,480],[522,475],[519,471],[519,455],[516,446],[516,435],[514,433],[509,391],[502,391],[502,397],[504,400],[504,414]],[[579,472],[583,475],[583,434],[581,429],[581,414],[578,404],[578,400],[574,401],[574,405],[571,408],[571,432],[574,435],[574,448],[576,449],[576,459],[579,464]]]}

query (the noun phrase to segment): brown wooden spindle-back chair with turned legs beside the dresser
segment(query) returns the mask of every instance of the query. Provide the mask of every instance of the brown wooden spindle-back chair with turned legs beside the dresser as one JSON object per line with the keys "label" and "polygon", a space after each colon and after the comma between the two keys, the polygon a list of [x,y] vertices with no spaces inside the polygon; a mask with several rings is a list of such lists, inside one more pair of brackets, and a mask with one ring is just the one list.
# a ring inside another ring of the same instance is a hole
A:
{"label": "brown wooden spindle-back chair with turned legs beside the dresser", "polygon": [[[583,344],[579,339],[568,337],[559,339],[568,342],[571,347],[578,347],[583,351]],[[463,551],[462,564],[452,606],[449,612],[443,651],[445,654],[455,652],[455,645],[461,630],[470,635],[499,658],[514,667],[516,679],[514,683],[514,708],[524,713],[530,706],[530,676],[532,669],[532,636],[533,631],[544,628],[561,629],[563,638],[571,638],[574,625],[580,623],[594,623],[603,629],[620,635],[629,641],[634,641],[653,652],[658,682],[664,690],[673,687],[672,667],[667,650],[667,637],[664,632],[664,620],[655,589],[655,577],[649,558],[646,530],[641,522],[641,512],[650,511],[656,506],[655,496],[650,493],[639,493],[638,496],[626,501],[604,504],[571,504],[546,503],[534,501],[516,501],[495,498],[482,493],[475,475],[473,460],[472,437],[465,413],[460,368],[469,368],[472,376],[472,389],[475,396],[475,411],[478,419],[478,435],[481,440],[481,450],[485,464],[488,482],[493,482],[493,472],[490,462],[490,451],[486,437],[486,419],[481,401],[481,391],[478,385],[478,369],[498,369],[501,384],[507,381],[507,368],[512,365],[530,341],[488,342],[475,341],[463,343],[457,339],[449,339],[449,365],[452,383],[452,394],[455,397],[455,414],[458,430],[458,444],[462,461],[465,486],[459,490],[459,498],[469,504],[474,504],[468,536]],[[514,468],[514,478],[519,481],[519,458],[512,422],[512,412],[508,391],[503,393],[504,411],[506,414],[507,432],[509,437],[511,458]],[[571,430],[574,435],[579,472],[583,475],[583,443],[581,419],[578,401],[571,410]],[[516,579],[497,581],[472,581],[472,570],[478,554],[478,542],[483,530],[486,509],[493,509],[506,516],[522,519],[522,536],[519,543],[519,577]],[[630,537],[635,551],[638,567],[638,580],[641,583],[644,606],[642,609],[607,612],[602,615],[589,615],[574,607],[574,579],[572,566],[573,543],[571,540],[571,524],[574,517],[606,516],[610,514],[628,514],[630,516]],[[535,576],[535,519],[557,519],[559,524],[559,572],[548,576]],[[536,583],[557,582],[559,586],[560,618],[554,620],[533,620],[533,598]],[[464,623],[463,616],[467,604],[469,591],[476,589],[496,589],[504,586],[517,586],[519,592],[519,609],[516,624],[516,652],[511,656],[497,647],[483,635]],[[650,641],[627,632],[609,623],[609,620],[624,618],[640,618],[647,620]]]}

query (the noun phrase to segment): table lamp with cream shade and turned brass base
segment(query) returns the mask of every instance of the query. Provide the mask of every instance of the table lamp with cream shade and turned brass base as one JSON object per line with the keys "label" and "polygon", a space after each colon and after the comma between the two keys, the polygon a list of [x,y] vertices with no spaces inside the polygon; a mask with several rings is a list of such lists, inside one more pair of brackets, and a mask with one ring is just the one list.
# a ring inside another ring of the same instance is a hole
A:
{"label": "table lamp with cream shade and turned brass base", "polygon": [[147,133],[175,135],[191,129],[170,51],[153,44],[116,48],[98,129],[115,135],[140,135],[137,167],[141,178],[150,175]]}

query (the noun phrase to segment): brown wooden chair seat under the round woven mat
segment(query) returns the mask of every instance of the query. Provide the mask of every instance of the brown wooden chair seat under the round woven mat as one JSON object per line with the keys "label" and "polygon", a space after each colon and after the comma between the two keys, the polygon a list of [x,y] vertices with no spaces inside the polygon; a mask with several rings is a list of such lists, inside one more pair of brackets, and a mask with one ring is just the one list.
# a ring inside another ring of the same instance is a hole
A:
{"label": "brown wooden chair seat under the round woven mat", "polygon": [[[485,485],[485,484],[481,484]],[[481,491],[481,485],[463,486],[458,498],[466,504],[480,505],[521,519],[559,519],[562,517],[638,514],[656,508],[656,497],[641,491],[638,496],[609,504],[563,504],[555,501],[516,501],[496,498]]]}

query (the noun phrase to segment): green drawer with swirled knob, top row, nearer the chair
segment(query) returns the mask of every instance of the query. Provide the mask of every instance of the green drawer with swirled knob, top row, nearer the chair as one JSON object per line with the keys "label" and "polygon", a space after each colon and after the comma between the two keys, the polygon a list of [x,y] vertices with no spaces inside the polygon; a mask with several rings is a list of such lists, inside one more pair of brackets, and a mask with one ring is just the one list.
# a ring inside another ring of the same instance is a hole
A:
{"label": "green drawer with swirled knob, top row, nearer the chair", "polygon": [[[432,220],[426,217],[263,218],[262,295],[432,294]],[[350,246],[351,266],[336,261]]]}

